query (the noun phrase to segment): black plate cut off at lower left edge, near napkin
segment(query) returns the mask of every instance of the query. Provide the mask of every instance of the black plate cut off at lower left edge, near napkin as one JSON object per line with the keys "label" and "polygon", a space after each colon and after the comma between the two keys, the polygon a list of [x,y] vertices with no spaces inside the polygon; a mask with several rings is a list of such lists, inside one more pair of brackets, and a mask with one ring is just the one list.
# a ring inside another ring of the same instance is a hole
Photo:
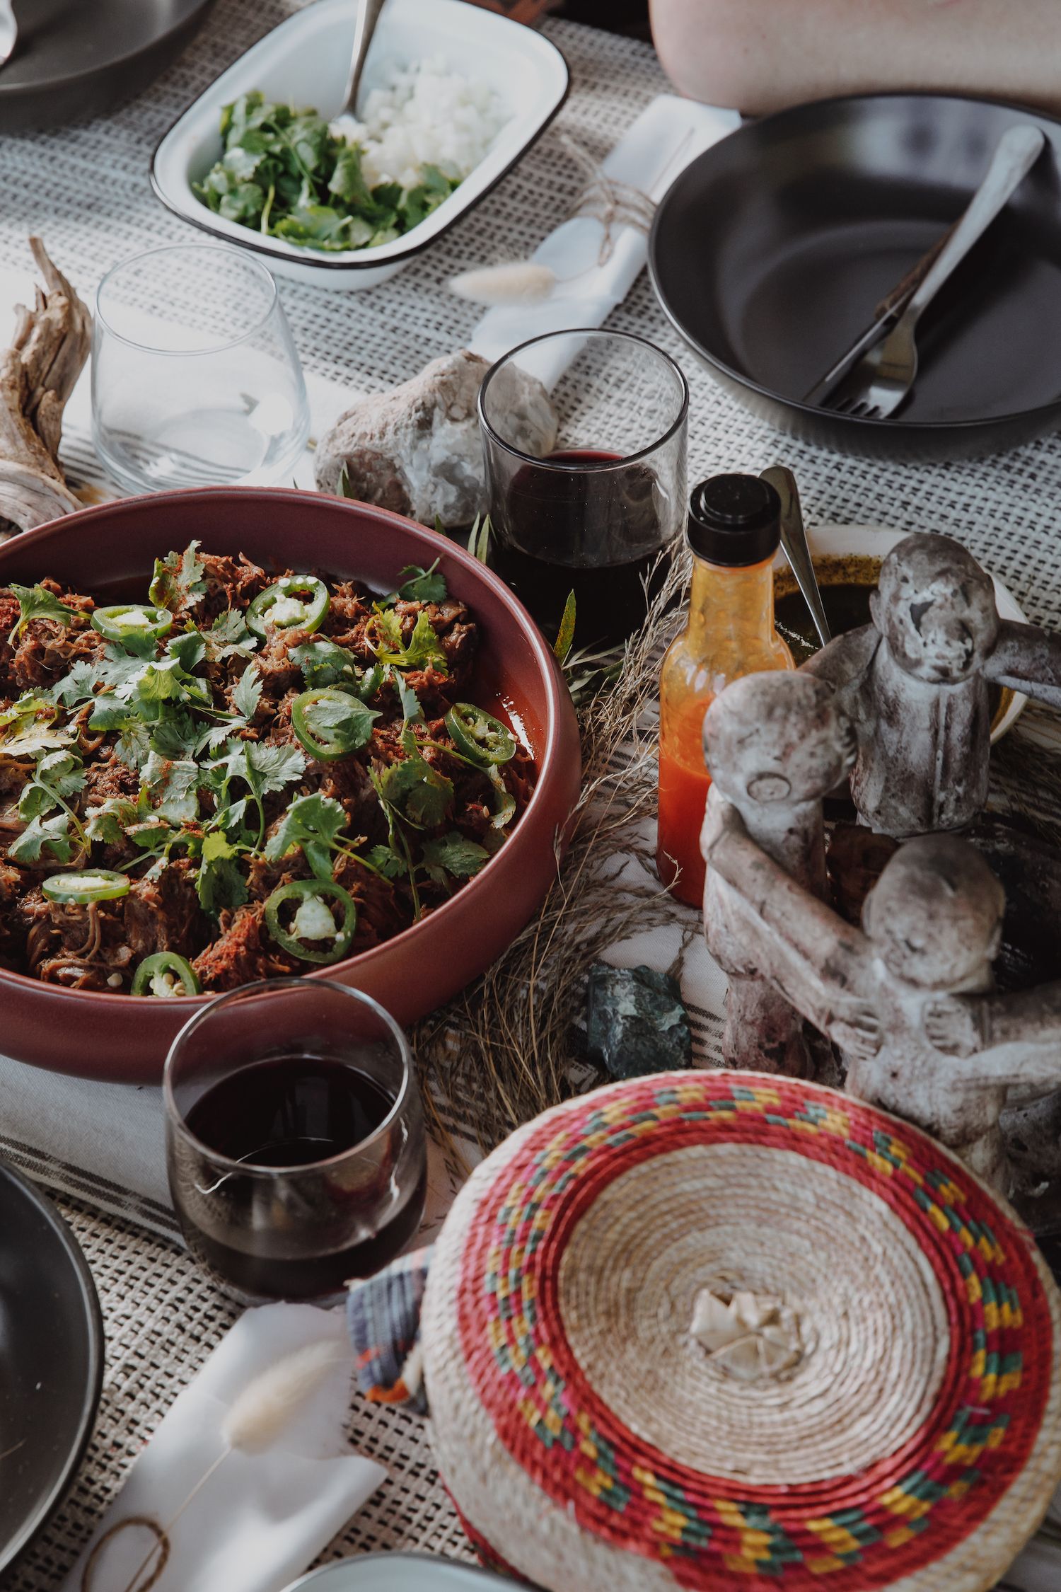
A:
{"label": "black plate cut off at lower left edge, near napkin", "polygon": [[0,1161],[0,1574],[64,1498],[103,1377],[103,1321],[78,1242]]}

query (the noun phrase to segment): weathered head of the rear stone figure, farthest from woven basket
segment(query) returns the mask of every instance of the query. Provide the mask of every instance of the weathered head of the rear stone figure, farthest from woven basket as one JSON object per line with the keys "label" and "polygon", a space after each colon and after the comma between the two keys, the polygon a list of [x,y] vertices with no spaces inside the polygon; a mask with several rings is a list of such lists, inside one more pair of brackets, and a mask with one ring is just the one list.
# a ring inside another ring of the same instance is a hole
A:
{"label": "weathered head of the rear stone figure, farthest from woven basket", "polygon": [[907,537],[881,567],[873,624],[904,673],[958,685],[986,662],[999,635],[991,576],[950,537]]}

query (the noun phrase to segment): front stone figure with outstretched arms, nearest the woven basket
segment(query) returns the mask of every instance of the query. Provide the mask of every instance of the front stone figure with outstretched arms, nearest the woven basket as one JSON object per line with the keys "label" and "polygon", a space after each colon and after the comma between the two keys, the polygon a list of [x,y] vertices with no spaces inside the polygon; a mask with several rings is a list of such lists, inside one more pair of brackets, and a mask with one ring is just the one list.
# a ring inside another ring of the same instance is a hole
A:
{"label": "front stone figure with outstretched arms, nearest the woven basket", "polygon": [[980,853],[950,834],[908,841],[857,930],[751,839],[721,783],[708,798],[703,852],[708,917],[840,1044],[846,1089],[923,1127],[1009,1192],[999,1116],[1012,1089],[1061,1083],[1061,985],[994,993],[1005,899]]}

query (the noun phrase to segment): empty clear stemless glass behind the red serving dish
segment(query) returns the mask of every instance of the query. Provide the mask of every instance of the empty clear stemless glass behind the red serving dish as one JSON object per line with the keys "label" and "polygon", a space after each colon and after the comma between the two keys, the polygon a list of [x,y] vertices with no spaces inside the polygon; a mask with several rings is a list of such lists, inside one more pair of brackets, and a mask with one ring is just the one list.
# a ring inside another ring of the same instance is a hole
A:
{"label": "empty clear stemless glass behind the red serving dish", "polygon": [[302,366],[259,261],[173,244],[107,272],[92,438],[119,487],[264,486],[301,457],[309,425]]}

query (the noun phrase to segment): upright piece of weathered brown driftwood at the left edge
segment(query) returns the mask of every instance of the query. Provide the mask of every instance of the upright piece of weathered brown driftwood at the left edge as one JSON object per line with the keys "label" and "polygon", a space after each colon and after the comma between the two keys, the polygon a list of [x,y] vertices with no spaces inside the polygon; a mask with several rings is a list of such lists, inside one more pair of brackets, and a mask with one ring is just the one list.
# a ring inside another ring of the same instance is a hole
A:
{"label": "upright piece of weathered brown driftwood at the left edge", "polygon": [[19,306],[0,353],[0,538],[81,508],[59,468],[62,412],[92,344],[92,318],[38,237],[45,279],[33,309]]}

